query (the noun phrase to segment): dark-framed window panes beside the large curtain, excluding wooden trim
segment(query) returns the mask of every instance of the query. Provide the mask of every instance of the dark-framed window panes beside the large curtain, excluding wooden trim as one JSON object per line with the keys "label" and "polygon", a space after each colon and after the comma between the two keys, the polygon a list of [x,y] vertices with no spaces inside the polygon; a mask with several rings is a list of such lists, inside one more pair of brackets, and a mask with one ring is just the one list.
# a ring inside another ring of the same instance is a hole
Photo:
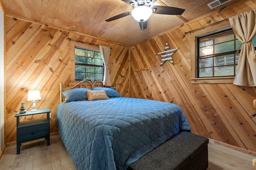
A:
{"label": "dark-framed window panes beside the large curtain, excluding wooden trim", "polygon": [[235,76],[240,44],[231,28],[197,37],[197,77]]}

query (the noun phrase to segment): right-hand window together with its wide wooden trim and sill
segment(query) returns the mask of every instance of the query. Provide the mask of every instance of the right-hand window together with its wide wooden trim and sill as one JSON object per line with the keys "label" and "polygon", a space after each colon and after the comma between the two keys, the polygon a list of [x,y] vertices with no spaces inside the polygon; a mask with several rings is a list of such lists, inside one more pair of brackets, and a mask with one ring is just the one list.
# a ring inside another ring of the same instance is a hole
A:
{"label": "right-hand window together with its wide wooden trim and sill", "polygon": [[[255,37],[252,43],[256,49]],[[191,82],[233,83],[240,44],[229,22],[191,33]]]}

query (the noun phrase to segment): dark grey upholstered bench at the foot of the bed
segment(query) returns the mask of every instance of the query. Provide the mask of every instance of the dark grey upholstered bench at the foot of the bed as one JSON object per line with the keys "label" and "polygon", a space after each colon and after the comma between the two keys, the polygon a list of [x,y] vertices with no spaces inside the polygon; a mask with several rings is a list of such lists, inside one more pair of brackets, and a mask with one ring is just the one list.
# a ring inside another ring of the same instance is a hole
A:
{"label": "dark grey upholstered bench at the foot of the bed", "polygon": [[181,131],[130,164],[127,170],[206,170],[208,143],[206,137]]}

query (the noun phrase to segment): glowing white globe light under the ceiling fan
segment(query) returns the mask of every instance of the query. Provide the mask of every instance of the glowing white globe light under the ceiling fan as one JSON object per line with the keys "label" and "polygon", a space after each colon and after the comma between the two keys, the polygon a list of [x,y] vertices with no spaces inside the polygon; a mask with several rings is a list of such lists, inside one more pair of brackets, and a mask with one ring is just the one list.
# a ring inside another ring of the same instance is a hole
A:
{"label": "glowing white globe light under the ceiling fan", "polygon": [[132,10],[132,16],[135,20],[143,22],[148,20],[152,14],[152,9],[148,6],[138,6]]}

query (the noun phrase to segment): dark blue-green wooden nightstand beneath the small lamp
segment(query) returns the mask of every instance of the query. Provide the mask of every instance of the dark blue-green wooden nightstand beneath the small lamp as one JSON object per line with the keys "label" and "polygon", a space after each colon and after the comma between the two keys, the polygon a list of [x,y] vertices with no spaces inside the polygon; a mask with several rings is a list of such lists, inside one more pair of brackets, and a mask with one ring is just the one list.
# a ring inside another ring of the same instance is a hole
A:
{"label": "dark blue-green wooden nightstand beneath the small lamp", "polygon": [[[17,154],[20,154],[20,145],[36,139],[47,139],[47,146],[50,145],[50,109],[38,109],[37,111],[17,112]],[[47,114],[47,118],[20,121],[21,116]]]}

